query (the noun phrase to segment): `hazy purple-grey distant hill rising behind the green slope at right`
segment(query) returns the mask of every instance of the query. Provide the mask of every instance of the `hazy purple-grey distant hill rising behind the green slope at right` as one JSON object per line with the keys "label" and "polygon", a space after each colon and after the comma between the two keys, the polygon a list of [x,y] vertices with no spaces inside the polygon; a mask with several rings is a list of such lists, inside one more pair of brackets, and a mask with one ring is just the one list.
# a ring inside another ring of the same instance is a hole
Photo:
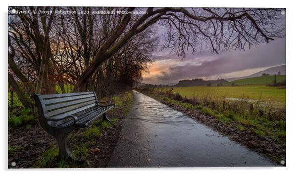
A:
{"label": "hazy purple-grey distant hill rising behind the green slope at right", "polygon": [[252,77],[260,77],[263,75],[263,73],[269,74],[269,75],[277,75],[278,72],[281,72],[281,75],[286,75],[286,65],[281,65],[281,66],[276,66],[276,67],[271,67],[268,69],[265,69],[263,71],[259,71],[257,73],[251,74],[246,77],[237,77],[237,78],[228,78],[226,79],[229,82],[232,82],[234,80],[240,80],[240,79],[247,79],[247,78],[252,78]]}

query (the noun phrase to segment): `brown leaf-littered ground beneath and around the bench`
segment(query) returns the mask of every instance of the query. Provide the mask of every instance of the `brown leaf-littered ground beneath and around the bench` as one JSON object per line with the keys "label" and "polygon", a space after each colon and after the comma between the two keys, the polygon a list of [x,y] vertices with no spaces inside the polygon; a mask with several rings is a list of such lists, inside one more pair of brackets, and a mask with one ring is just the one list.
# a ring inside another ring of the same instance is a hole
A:
{"label": "brown leaf-littered ground beneath and around the bench", "polygon": [[[110,127],[101,130],[96,141],[91,142],[84,138],[86,129],[73,131],[69,137],[70,149],[76,143],[83,143],[87,146],[87,158],[83,164],[76,165],[78,168],[99,168],[105,167],[109,157],[121,137],[120,131],[125,117],[125,108],[129,105],[126,102],[122,106],[115,107],[108,112],[110,119],[118,121]],[[100,119],[99,119],[100,120]],[[99,126],[100,127],[100,126]],[[18,127],[8,129],[8,168],[38,168],[34,164],[42,159],[42,154],[50,147],[57,147],[53,136],[42,129],[38,122],[28,127]],[[9,148],[13,148],[9,150]],[[13,164],[15,163],[15,166]],[[50,165],[47,168],[57,168]],[[70,167],[72,168],[72,167]]]}

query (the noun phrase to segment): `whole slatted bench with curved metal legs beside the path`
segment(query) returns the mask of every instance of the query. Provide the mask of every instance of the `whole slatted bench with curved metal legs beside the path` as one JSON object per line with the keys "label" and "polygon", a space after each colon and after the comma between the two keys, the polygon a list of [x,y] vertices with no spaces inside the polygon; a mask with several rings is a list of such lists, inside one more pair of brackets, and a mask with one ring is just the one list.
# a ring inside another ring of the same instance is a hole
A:
{"label": "whole slatted bench with curved metal legs beside the path", "polygon": [[53,135],[59,145],[59,157],[76,160],[68,148],[71,131],[88,127],[102,116],[109,121],[106,112],[115,105],[100,105],[96,93],[78,92],[33,96],[43,129]]}

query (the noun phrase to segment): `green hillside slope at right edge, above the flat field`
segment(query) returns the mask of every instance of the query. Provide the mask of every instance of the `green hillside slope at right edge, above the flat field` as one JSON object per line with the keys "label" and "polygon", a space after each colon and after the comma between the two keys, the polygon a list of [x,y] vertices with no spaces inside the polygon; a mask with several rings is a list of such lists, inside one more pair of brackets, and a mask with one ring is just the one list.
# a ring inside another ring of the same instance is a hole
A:
{"label": "green hillside slope at right edge, above the flat field", "polygon": [[[276,82],[282,82],[283,80],[286,80],[285,75],[277,75],[276,76]],[[247,78],[247,79],[241,79],[241,80],[235,80],[230,82],[229,84],[234,83],[235,85],[260,85],[260,84],[270,84],[275,81],[275,76],[261,76],[261,77],[253,77],[253,78]]]}

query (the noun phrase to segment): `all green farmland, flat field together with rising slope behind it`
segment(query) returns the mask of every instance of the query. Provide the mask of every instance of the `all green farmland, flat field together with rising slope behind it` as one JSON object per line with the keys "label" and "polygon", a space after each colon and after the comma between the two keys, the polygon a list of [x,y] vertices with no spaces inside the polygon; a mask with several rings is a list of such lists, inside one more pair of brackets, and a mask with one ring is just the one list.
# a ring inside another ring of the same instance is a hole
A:
{"label": "all green farmland, flat field together with rising slope behind it", "polygon": [[[276,82],[282,82],[284,80],[286,80],[285,75],[276,76]],[[239,98],[274,102],[283,106],[286,104],[286,88],[266,86],[266,84],[271,84],[273,81],[275,81],[275,76],[261,76],[235,80],[222,86],[174,88],[174,92],[179,92],[183,97],[209,100]]]}

